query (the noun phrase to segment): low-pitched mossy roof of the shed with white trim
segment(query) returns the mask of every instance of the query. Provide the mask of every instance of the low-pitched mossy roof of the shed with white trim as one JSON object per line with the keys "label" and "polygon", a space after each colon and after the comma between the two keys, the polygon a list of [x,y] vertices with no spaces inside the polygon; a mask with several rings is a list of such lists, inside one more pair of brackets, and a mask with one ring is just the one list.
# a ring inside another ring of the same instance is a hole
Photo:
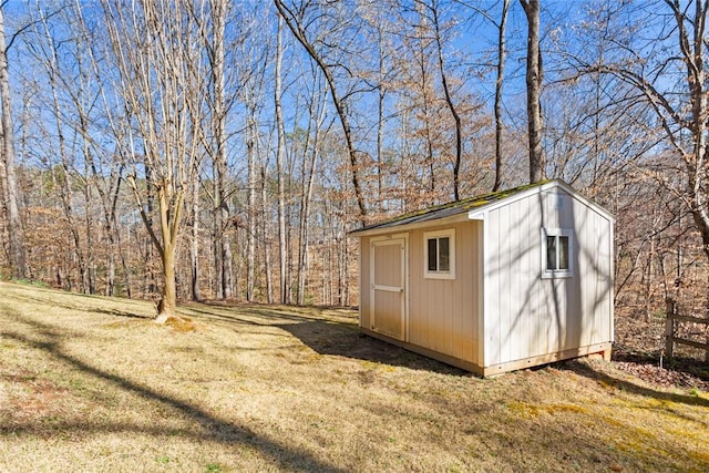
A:
{"label": "low-pitched mossy roof of the shed with white trim", "polygon": [[424,208],[421,210],[410,212],[408,214],[399,215],[397,217],[390,218],[384,222],[380,222],[378,224],[367,225],[361,228],[357,228],[350,232],[351,236],[360,236],[364,233],[384,230],[388,228],[395,228],[401,226],[409,226],[414,224],[423,224],[425,222],[431,220],[440,220],[448,217],[453,217],[455,215],[469,213],[469,215],[476,210],[482,210],[487,207],[493,207],[495,204],[501,204],[504,200],[521,197],[526,193],[535,193],[541,191],[541,188],[552,188],[552,187],[562,187],[566,192],[572,195],[575,195],[582,198],[585,203],[595,207],[598,212],[604,213],[609,218],[613,218],[610,214],[608,214],[605,209],[603,209],[597,204],[594,204],[590,200],[587,200],[580,197],[568,184],[563,182],[562,179],[554,181],[543,181],[535,184],[527,184],[518,187],[514,187],[506,191],[500,191],[489,194],[482,194],[474,197],[464,198],[462,200],[450,202],[448,204],[441,204],[433,207]]}

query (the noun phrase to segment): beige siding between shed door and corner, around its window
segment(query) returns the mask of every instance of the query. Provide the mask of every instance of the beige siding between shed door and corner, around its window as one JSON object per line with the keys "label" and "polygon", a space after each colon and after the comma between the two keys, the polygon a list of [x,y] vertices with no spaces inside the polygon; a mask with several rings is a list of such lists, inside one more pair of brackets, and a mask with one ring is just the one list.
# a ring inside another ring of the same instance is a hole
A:
{"label": "beige siding between shed door and corner, around its window", "polygon": [[[479,363],[481,226],[470,222],[411,232],[409,238],[409,342]],[[423,276],[424,232],[455,229],[455,279]]]}

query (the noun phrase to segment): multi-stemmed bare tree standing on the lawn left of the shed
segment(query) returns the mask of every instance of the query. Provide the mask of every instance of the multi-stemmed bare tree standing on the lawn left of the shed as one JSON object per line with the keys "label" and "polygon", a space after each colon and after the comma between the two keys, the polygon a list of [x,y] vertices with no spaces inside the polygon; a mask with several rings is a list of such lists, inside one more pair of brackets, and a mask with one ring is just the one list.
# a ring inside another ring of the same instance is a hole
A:
{"label": "multi-stemmed bare tree standing on the lawn left of the shed", "polygon": [[[102,1],[114,65],[125,107],[135,133],[119,142],[132,171],[127,182],[151,240],[161,257],[162,300],[157,321],[177,317],[176,251],[185,197],[203,157],[205,70],[199,33],[204,21],[187,14],[187,3],[175,0],[123,3]],[[150,173],[140,171],[146,163]],[[144,207],[146,185],[155,188],[157,233]]]}

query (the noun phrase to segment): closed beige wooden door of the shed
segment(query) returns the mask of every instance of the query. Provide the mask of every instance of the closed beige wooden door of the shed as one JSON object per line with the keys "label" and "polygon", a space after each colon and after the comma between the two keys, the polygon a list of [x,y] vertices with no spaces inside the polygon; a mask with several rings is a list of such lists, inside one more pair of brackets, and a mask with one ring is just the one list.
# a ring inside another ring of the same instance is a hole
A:
{"label": "closed beige wooden door of the shed", "polygon": [[372,243],[371,329],[398,340],[404,339],[405,253],[404,238]]}

